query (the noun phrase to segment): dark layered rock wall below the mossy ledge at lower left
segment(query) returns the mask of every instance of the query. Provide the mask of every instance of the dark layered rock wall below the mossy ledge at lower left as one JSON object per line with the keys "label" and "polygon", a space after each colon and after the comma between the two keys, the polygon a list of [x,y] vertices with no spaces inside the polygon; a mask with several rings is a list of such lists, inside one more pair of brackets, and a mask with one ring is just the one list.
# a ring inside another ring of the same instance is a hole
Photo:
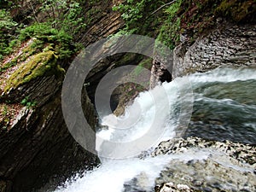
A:
{"label": "dark layered rock wall below the mossy ledge at lower left", "polygon": [[[31,191],[48,183],[49,178],[53,187],[72,172],[98,162],[94,154],[79,147],[67,130],[61,111],[62,78],[56,73],[44,75],[3,93],[1,105],[6,114],[12,113],[11,109],[14,113],[1,121],[0,191]],[[94,108],[88,96],[84,95],[84,100],[84,113],[93,127]],[[20,101],[25,101],[26,106]],[[35,106],[29,104],[33,101],[37,101]]]}

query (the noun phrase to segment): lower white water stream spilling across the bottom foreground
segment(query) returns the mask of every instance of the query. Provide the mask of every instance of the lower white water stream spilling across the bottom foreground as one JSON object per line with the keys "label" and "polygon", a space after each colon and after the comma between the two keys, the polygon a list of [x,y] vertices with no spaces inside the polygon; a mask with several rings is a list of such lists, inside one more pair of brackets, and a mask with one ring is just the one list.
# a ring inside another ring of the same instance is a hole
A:
{"label": "lower white water stream spilling across the bottom foreground", "polygon": [[131,180],[137,174],[147,172],[144,188],[154,186],[154,178],[157,177],[164,166],[174,159],[183,161],[207,159],[210,152],[188,152],[180,155],[168,155],[140,160],[137,158],[127,160],[108,160],[93,172],[87,172],[84,177],[75,179],[73,183],[66,183],[67,187],[56,192],[120,192],[124,189],[124,183]]}

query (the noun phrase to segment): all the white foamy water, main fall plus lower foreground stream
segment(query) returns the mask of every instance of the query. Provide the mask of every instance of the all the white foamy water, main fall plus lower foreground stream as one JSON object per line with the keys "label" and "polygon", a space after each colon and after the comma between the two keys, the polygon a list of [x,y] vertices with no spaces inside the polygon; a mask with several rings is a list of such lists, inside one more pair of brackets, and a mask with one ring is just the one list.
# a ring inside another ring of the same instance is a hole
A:
{"label": "all the white foamy water, main fall plus lower foreground stream", "polygon": [[[212,151],[190,150],[185,154],[170,154],[155,158],[147,157],[145,160],[136,157],[114,160],[114,157],[121,157],[122,154],[124,154],[124,157],[126,154],[127,156],[139,154],[143,149],[154,147],[160,141],[172,137],[180,137],[181,135],[177,134],[177,128],[179,133],[183,133],[189,123],[183,123],[183,119],[188,119],[192,113],[192,111],[189,111],[191,108],[189,104],[194,102],[194,95],[191,90],[211,82],[228,83],[246,81],[248,79],[256,79],[256,70],[216,69],[208,73],[197,73],[189,77],[177,78],[171,83],[164,83],[154,90],[141,93],[137,96],[134,104],[126,108],[124,116],[116,118],[110,114],[101,119],[102,125],[108,125],[108,130],[102,130],[97,133],[97,151],[103,157],[105,155],[108,156],[108,153],[113,154],[109,155],[107,159],[102,158],[102,165],[92,172],[85,172],[83,177],[74,179],[72,183],[65,183],[64,188],[57,189],[55,192],[121,192],[126,181],[131,180],[142,172],[147,173],[147,186],[145,187],[150,189],[154,186],[154,178],[159,176],[160,171],[171,160],[207,159],[209,154],[212,154]],[[192,89],[190,90],[191,87]],[[229,98],[217,100],[203,96],[200,93],[195,95],[196,102],[218,102],[238,108],[238,105]],[[256,122],[249,122],[247,125],[255,127]],[[183,131],[180,131],[181,127],[184,129]],[[151,135],[147,137],[148,141],[139,141],[148,131],[152,131]],[[127,150],[123,148],[125,145],[121,145],[135,140],[139,142],[134,143],[133,147],[130,146],[131,148],[128,146]],[[106,141],[107,143],[117,144],[111,145],[111,148],[109,148],[108,144],[104,146]],[[143,148],[140,148],[139,145],[142,145]],[[135,146],[137,148],[134,148]],[[132,151],[133,149],[134,151]],[[113,157],[113,159],[111,160],[109,157]],[[223,160],[221,163],[225,164]],[[248,171],[239,166],[227,166],[236,168],[241,172]]]}

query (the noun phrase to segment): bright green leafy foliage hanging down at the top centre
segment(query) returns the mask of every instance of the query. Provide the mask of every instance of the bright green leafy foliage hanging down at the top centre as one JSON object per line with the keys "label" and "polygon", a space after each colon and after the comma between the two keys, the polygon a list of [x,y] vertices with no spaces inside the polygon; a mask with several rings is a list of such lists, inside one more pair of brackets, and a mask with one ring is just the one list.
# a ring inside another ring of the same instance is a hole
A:
{"label": "bright green leafy foliage hanging down at the top centre", "polygon": [[[181,19],[177,17],[177,11],[180,9],[182,2],[182,0],[177,0],[175,3],[160,9],[162,5],[169,3],[169,1],[126,0],[124,3],[113,7],[113,10],[122,13],[125,20],[125,28],[119,33],[150,35],[151,30],[154,33],[159,32],[157,40],[173,49],[179,39]],[[154,12],[157,9],[159,11]]]}

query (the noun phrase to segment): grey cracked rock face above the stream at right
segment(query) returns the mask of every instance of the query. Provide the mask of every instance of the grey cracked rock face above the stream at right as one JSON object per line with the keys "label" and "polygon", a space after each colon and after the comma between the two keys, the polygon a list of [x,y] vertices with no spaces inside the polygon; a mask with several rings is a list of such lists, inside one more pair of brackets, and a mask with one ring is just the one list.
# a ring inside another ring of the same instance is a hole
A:
{"label": "grey cracked rock face above the stream at right", "polygon": [[216,67],[255,67],[256,25],[217,27],[191,46],[183,42],[174,49],[173,78]]}

